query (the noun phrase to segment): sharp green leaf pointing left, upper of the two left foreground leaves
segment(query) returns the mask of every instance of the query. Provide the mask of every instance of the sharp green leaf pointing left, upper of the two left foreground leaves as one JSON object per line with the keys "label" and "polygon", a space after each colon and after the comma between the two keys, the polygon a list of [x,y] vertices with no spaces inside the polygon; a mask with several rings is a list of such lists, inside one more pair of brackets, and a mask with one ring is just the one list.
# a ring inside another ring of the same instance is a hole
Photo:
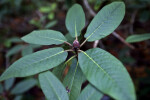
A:
{"label": "sharp green leaf pointing left, upper of the two left foreground leaves", "polygon": [[66,40],[62,33],[53,30],[38,30],[21,38],[27,43],[39,45],[62,44]]}

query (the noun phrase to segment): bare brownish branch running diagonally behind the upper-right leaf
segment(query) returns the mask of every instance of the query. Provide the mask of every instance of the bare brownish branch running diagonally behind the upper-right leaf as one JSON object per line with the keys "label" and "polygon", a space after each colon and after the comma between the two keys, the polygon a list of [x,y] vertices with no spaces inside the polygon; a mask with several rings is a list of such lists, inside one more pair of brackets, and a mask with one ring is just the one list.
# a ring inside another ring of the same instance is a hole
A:
{"label": "bare brownish branch running diagonally behind the upper-right leaf", "polygon": [[[92,17],[94,17],[96,15],[96,13],[92,10],[92,8],[89,6],[88,1],[87,0],[83,0],[84,5],[86,7],[87,10],[89,10],[89,13]],[[134,17],[135,18],[135,17]],[[130,47],[131,49],[134,49],[134,46],[132,46],[131,44],[127,43],[119,34],[117,34],[116,32],[112,33],[113,36],[115,36],[116,38],[118,38],[122,43],[124,43],[125,45],[127,45],[128,47]],[[97,47],[97,45],[99,44],[99,42],[101,42],[100,40],[96,40],[94,42],[93,47]],[[102,43],[102,42],[101,42]]]}

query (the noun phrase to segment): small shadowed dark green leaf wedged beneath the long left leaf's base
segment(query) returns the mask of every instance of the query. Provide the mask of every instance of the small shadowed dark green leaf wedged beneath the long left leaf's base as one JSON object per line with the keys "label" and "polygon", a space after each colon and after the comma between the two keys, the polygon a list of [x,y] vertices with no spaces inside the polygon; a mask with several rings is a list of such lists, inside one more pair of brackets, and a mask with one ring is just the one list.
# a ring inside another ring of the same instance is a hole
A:
{"label": "small shadowed dark green leaf wedged beneath the long left leaf's base", "polygon": [[55,67],[52,71],[52,73],[60,80],[63,80],[63,74],[64,74],[64,70],[66,68],[66,65],[64,64],[64,62],[60,65],[58,65],[57,67]]}

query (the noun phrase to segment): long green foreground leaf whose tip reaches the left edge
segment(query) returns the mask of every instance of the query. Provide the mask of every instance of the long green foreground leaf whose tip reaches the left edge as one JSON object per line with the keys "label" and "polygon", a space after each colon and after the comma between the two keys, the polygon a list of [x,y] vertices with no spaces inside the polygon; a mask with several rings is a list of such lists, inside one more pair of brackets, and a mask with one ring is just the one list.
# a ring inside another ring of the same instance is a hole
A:
{"label": "long green foreground leaf whose tip reaches the left edge", "polygon": [[25,77],[46,71],[65,61],[67,52],[62,48],[50,48],[22,57],[13,63],[0,77],[0,81],[12,77]]}

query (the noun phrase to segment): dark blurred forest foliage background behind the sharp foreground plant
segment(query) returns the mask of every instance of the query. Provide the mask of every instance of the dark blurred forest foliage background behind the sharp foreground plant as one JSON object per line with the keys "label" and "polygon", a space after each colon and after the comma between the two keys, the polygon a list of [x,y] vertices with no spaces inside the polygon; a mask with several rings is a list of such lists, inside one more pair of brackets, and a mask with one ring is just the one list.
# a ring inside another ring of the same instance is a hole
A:
{"label": "dark blurred forest foliage background behind the sharp foreground plant", "polygon": [[[33,30],[53,29],[61,31],[69,38],[65,16],[75,3],[82,5],[85,11],[86,27],[82,31],[85,33],[93,18],[88,6],[97,13],[113,1],[124,1],[126,4],[124,20],[115,30],[119,37],[111,34],[102,39],[98,47],[109,51],[123,62],[134,82],[137,99],[150,100],[150,41],[130,44],[124,41],[130,35],[150,34],[150,0],[0,0],[0,74],[22,56],[52,47],[26,44],[20,39],[22,36]],[[86,43],[82,49],[92,47],[93,43]],[[35,75],[8,79],[0,83],[0,100],[45,98]],[[103,100],[111,98],[104,97]]]}

